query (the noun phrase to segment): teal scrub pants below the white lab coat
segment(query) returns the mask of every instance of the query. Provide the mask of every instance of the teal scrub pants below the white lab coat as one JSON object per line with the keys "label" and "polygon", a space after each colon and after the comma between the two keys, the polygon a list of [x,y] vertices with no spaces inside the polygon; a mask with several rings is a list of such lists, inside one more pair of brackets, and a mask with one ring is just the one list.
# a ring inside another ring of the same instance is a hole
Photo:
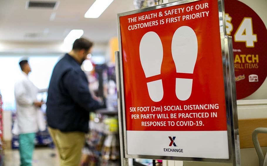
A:
{"label": "teal scrub pants below the white lab coat", "polygon": [[35,133],[19,135],[19,154],[21,157],[20,166],[32,166]]}

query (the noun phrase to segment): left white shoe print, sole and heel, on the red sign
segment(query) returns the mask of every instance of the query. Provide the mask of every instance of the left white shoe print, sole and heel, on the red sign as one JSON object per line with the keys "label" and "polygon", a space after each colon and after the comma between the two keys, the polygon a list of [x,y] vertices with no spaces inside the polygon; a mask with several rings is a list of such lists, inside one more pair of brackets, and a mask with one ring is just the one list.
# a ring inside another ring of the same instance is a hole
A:
{"label": "left white shoe print, sole and heel, on the red sign", "polygon": [[[140,60],[146,78],[159,75],[163,60],[163,47],[156,32],[147,32],[139,46]],[[148,94],[152,101],[158,102],[163,98],[162,80],[147,83]]]}

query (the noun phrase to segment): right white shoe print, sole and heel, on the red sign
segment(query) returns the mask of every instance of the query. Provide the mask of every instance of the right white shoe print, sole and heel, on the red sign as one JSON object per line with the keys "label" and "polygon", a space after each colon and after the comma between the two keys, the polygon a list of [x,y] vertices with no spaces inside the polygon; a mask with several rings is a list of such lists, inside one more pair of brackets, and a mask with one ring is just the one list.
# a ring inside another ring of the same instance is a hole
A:
{"label": "right white shoe print, sole and heel, on the red sign", "polygon": [[[172,55],[178,73],[193,73],[197,60],[197,36],[188,26],[179,27],[172,39]],[[176,78],[175,92],[179,100],[191,96],[193,79]]]}

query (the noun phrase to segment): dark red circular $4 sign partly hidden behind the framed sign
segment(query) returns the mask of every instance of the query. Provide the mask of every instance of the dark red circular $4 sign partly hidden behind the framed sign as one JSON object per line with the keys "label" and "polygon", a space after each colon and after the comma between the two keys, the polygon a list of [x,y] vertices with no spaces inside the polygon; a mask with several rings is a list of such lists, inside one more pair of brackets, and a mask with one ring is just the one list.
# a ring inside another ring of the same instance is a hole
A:
{"label": "dark red circular $4 sign partly hidden behind the framed sign", "polygon": [[232,36],[237,99],[253,94],[267,76],[267,30],[246,4],[224,0],[227,35]]}

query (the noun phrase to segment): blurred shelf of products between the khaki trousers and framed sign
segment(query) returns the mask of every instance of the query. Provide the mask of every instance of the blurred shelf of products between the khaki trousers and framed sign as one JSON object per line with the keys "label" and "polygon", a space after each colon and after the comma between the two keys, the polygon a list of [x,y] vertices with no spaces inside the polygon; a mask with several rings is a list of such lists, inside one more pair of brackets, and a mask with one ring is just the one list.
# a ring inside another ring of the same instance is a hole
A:
{"label": "blurred shelf of products between the khaki trousers and framed sign", "polygon": [[116,114],[104,113],[90,115],[90,132],[83,150],[81,166],[120,165],[118,118]]}

